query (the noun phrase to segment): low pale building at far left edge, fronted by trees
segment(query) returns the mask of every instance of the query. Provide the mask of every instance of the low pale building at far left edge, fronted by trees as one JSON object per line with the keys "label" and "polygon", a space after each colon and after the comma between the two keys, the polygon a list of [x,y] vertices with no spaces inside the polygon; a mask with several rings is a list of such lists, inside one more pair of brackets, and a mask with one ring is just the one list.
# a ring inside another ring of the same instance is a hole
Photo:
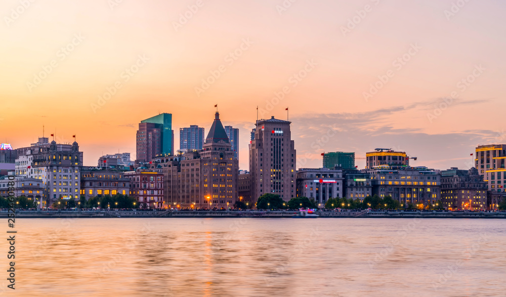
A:
{"label": "low pale building at far left edge, fronted by trees", "polygon": [[46,187],[39,179],[14,177],[14,180],[9,180],[8,176],[0,179],[0,196],[9,197],[9,182],[14,182],[14,196],[25,196],[28,200],[35,200],[38,205],[43,202],[46,196]]}

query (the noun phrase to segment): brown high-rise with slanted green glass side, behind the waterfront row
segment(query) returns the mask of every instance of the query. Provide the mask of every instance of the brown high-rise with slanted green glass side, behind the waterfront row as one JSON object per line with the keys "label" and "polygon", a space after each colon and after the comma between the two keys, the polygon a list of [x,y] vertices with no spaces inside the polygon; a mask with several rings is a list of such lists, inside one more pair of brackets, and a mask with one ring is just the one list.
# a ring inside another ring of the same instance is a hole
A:
{"label": "brown high-rise with slanted green glass side, behind the waterfront row", "polygon": [[136,135],[136,162],[150,161],[157,155],[174,154],[172,114],[159,115],[142,120]]}

